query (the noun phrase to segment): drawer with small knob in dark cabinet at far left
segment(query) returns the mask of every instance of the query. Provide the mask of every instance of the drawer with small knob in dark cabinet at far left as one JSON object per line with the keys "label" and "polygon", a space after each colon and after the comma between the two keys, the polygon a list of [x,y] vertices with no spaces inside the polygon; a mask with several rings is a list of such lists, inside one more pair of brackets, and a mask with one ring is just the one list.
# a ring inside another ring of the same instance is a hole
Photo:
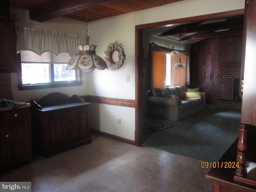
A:
{"label": "drawer with small knob in dark cabinet at far left", "polygon": [[7,111],[0,114],[0,119],[2,119],[3,122],[26,120],[27,118],[28,118],[27,110]]}

